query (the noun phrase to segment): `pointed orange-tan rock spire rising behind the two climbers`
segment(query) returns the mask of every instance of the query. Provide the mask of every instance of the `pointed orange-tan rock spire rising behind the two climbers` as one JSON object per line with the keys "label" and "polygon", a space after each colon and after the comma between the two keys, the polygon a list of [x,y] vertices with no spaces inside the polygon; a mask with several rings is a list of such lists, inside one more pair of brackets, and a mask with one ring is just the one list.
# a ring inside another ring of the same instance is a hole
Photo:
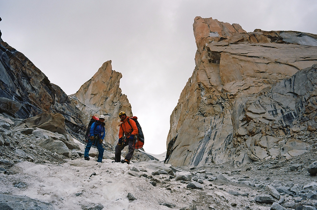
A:
{"label": "pointed orange-tan rock spire rising behind the two climbers", "polygon": [[76,107],[84,113],[85,124],[88,124],[92,115],[106,116],[105,141],[111,145],[118,141],[119,112],[125,111],[132,117],[131,105],[119,88],[121,77],[120,72],[112,70],[111,61],[107,61],[90,80],[71,95]]}

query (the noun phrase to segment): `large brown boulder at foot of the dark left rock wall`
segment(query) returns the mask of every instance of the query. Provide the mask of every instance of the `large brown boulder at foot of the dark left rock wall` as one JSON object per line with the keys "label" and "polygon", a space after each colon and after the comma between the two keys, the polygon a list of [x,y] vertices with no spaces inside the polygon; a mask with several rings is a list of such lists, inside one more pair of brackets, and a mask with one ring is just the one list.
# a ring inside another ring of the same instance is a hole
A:
{"label": "large brown boulder at foot of the dark left rock wall", "polygon": [[42,113],[35,117],[27,118],[23,121],[29,128],[41,128],[51,132],[66,135],[65,118],[63,115]]}

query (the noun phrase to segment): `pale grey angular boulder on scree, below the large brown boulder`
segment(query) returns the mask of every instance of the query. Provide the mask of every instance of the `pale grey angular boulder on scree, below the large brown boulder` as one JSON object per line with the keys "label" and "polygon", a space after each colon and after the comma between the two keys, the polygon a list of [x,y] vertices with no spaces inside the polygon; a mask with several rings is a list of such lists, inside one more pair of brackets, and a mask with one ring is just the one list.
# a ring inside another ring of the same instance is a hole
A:
{"label": "pale grey angular boulder on scree, below the large brown boulder", "polygon": [[52,138],[39,139],[37,140],[37,143],[40,147],[45,148],[53,153],[56,152],[57,154],[62,154],[66,157],[69,157],[69,150],[66,144],[60,140],[54,140]]}

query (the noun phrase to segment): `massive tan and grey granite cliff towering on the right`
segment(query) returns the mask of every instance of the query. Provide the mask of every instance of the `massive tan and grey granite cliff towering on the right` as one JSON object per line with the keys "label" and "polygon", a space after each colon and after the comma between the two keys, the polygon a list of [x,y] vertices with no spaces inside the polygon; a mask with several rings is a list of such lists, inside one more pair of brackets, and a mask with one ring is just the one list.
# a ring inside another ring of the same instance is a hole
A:
{"label": "massive tan and grey granite cliff towering on the right", "polygon": [[310,149],[317,36],[247,33],[239,24],[201,17],[193,28],[196,67],[171,114],[165,162],[240,166]]}

